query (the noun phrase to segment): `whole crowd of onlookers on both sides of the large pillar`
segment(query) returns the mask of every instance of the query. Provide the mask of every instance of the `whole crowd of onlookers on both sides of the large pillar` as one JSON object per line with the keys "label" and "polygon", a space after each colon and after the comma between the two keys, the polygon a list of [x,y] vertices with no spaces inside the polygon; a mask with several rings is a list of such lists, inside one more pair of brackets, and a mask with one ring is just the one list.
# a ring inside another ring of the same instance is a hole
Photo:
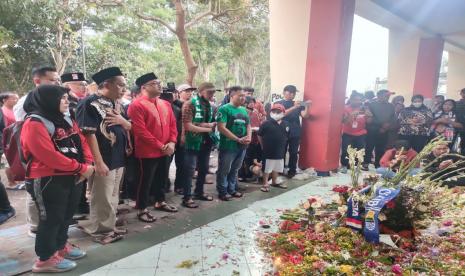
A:
{"label": "whole crowd of onlookers on both sides of the large pillar", "polygon": [[[9,163],[7,188],[28,192],[28,234],[35,237],[38,256],[33,272],[68,271],[85,257],[68,242],[76,219],[84,219],[80,229],[96,242],[121,240],[127,234],[117,219],[122,199],[135,201],[141,222],[153,223],[154,211],[178,211],[167,193],[181,195],[184,208],[213,201],[215,195],[204,189],[208,174],[216,173],[218,199],[231,201],[243,197],[238,181],[256,182],[266,193],[287,188],[279,174],[297,173],[301,121],[310,117],[311,101],[295,100],[294,85],[284,87],[282,100],[263,104],[250,87],[229,87],[221,102],[216,101],[221,90],[209,82],[165,89],[153,72],[128,89],[118,67],[95,73],[92,84],[82,73],[59,76],[52,67],[35,69],[32,79],[35,89],[21,98],[1,94],[0,133]],[[389,102],[391,95],[387,90],[376,97],[350,95],[342,119],[341,171],[350,169],[350,145],[365,148],[365,170],[373,162],[379,174],[393,177],[400,163],[437,136],[449,145],[432,152],[430,162],[441,162],[430,169],[455,162],[447,154],[465,149],[460,139],[465,138],[465,90],[459,102],[437,96],[431,106],[414,95],[412,105],[404,107],[401,96]],[[211,172],[215,150],[217,170]],[[14,214],[0,183],[0,222]]]}

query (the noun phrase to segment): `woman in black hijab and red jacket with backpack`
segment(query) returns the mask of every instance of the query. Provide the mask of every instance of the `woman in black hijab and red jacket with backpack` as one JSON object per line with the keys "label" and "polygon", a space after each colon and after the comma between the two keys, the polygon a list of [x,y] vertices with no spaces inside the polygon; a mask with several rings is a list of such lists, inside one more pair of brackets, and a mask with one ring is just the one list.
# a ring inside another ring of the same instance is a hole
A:
{"label": "woman in black hijab and red jacket with backpack", "polygon": [[42,85],[29,94],[21,130],[27,162],[26,182],[39,210],[32,272],[64,272],[76,267],[85,252],[71,245],[68,227],[79,202],[80,187],[94,168],[86,140],[68,112],[68,89]]}

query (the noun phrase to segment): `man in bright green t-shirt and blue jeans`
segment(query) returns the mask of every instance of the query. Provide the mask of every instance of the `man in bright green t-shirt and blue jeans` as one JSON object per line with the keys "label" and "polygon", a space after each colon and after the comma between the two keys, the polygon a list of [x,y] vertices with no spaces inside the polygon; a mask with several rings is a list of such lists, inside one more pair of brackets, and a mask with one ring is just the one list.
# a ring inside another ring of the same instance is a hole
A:
{"label": "man in bright green t-shirt and blue jeans", "polygon": [[237,189],[237,172],[244,160],[245,150],[251,141],[250,120],[244,90],[240,86],[229,88],[230,102],[218,109],[217,123],[220,132],[216,189],[221,200],[242,197]]}

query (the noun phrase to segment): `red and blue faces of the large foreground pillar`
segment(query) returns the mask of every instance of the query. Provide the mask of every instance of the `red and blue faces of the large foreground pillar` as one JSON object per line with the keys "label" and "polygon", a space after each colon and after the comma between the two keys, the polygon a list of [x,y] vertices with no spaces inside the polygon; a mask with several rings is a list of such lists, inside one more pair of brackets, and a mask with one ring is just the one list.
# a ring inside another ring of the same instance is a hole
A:
{"label": "red and blue faces of the large foreground pillar", "polygon": [[354,11],[355,0],[312,0],[304,99],[313,106],[312,119],[303,121],[301,167],[339,167]]}

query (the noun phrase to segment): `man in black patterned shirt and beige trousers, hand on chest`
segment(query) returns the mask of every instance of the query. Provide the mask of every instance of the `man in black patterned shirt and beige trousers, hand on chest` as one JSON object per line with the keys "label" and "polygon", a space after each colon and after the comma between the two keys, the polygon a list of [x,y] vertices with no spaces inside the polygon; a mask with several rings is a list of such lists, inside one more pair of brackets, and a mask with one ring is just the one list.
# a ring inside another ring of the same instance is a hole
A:
{"label": "man in black patterned shirt and beige trousers, hand on chest", "polygon": [[121,70],[106,68],[92,79],[99,93],[79,102],[76,112],[79,127],[91,148],[96,172],[90,181],[90,220],[82,226],[91,235],[102,234],[96,241],[107,244],[120,240],[126,232],[116,228],[116,208],[131,123],[122,116],[124,110],[117,102],[126,87]]}

